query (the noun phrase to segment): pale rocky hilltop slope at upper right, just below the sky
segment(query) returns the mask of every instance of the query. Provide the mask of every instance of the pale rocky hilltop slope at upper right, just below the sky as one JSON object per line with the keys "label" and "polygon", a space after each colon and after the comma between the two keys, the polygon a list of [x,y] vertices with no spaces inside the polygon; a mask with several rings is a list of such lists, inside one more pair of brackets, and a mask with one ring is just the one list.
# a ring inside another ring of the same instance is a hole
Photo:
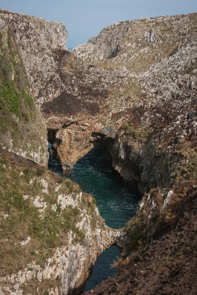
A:
{"label": "pale rocky hilltop slope at upper right, just below the sky", "polygon": [[139,72],[168,57],[177,45],[195,35],[196,17],[191,13],[115,23],[74,51],[100,67]]}

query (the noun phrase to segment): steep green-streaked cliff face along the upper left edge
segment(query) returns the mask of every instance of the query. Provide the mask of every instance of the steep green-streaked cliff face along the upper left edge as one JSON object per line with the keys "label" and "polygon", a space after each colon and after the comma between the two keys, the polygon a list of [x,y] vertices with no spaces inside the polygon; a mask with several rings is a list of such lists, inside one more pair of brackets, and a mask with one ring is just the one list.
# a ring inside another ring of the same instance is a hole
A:
{"label": "steep green-streaked cliff face along the upper left edge", "polygon": [[30,52],[38,50],[33,39],[27,41],[23,35],[32,31],[30,24],[27,16],[0,10],[0,147],[46,165],[46,125],[36,107],[32,77],[25,64],[24,52],[30,63]]}

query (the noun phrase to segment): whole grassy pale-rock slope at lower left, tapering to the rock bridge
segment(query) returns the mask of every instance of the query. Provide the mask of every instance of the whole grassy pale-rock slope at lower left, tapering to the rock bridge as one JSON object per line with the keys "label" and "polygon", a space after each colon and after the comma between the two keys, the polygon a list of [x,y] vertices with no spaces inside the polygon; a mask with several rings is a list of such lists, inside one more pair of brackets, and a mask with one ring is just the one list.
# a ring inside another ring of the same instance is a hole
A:
{"label": "whole grassy pale-rock slope at lower left, tapering to the rock bridge", "polygon": [[95,200],[43,166],[0,150],[0,183],[0,295],[79,294],[98,255],[122,246]]}

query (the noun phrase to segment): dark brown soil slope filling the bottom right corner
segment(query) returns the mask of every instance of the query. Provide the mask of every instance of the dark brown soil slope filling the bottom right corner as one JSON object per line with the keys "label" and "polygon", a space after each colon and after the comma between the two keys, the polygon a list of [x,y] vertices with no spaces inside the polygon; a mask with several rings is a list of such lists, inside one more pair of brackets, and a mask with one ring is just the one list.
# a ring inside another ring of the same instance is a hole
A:
{"label": "dark brown soil slope filling the bottom right corner", "polygon": [[197,187],[171,211],[152,245],[140,245],[119,266],[119,272],[99,284],[95,295],[197,294]]}

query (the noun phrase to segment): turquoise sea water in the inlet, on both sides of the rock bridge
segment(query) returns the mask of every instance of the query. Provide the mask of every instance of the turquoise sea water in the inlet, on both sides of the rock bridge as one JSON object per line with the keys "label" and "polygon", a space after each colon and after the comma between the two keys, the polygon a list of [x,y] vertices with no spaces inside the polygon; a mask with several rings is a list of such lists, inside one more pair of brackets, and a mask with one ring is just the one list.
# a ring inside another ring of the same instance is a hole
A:
{"label": "turquoise sea water in the inlet, on both sides of the rock bridge", "polygon": [[[51,155],[48,167],[64,177],[62,167]],[[104,159],[104,147],[96,147],[78,160],[72,173],[66,177],[77,182],[84,192],[91,193],[95,197],[100,215],[105,219],[107,226],[114,229],[122,228],[135,214],[139,192],[124,186],[118,173],[107,165]],[[93,289],[117,272],[117,269],[110,268],[110,265],[120,255],[120,250],[116,246],[111,246],[99,256],[92,275],[86,281],[85,291]]]}

